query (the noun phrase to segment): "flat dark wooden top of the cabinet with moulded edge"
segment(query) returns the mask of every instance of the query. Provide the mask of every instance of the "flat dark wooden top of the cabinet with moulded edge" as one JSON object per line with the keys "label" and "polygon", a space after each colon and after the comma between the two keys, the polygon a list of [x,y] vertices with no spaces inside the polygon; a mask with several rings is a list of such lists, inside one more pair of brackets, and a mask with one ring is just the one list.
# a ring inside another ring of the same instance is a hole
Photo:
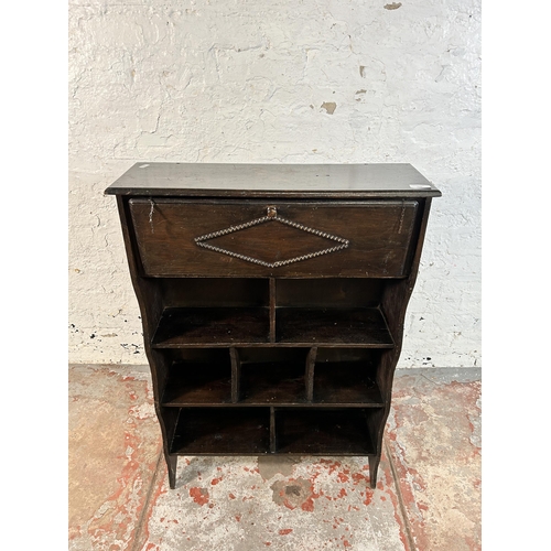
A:
{"label": "flat dark wooden top of the cabinet with moulded edge", "polygon": [[108,195],[439,197],[411,164],[136,163]]}

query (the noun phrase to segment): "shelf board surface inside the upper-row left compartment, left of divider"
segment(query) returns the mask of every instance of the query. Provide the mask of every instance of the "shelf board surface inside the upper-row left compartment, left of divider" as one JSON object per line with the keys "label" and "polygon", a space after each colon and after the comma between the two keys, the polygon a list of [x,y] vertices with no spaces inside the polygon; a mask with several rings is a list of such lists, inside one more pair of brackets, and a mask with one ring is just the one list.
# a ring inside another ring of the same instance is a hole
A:
{"label": "shelf board surface inside the upper-row left compartment, left of divider", "polygon": [[267,343],[269,327],[269,310],[264,307],[170,307],[161,316],[152,345],[179,348]]}

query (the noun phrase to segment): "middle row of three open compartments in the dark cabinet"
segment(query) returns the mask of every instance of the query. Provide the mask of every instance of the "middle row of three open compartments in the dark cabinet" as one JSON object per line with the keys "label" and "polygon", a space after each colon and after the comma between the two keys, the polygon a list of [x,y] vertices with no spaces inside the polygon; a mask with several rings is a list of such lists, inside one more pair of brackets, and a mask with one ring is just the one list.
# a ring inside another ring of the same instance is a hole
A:
{"label": "middle row of three open compartments in the dark cabinet", "polygon": [[385,404],[376,382],[376,350],[317,348],[317,360],[310,367],[310,348],[237,350],[234,368],[229,349],[166,350],[169,356],[176,357],[169,370],[161,404],[169,408]]}

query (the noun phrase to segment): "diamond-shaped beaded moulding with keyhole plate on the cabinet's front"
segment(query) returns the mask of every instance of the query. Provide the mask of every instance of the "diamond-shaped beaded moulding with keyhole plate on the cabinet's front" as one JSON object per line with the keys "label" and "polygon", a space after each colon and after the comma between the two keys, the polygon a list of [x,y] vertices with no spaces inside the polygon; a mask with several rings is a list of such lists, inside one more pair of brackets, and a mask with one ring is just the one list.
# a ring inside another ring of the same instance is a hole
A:
{"label": "diamond-shaped beaded moulding with keyhole plate on the cabinet's front", "polygon": [[[307,255],[302,255],[300,257],[293,257],[287,260],[278,260],[276,262],[267,262],[266,260],[261,260],[258,258],[249,257],[246,255],[240,255],[238,252],[234,252],[228,249],[224,249],[222,247],[216,247],[207,241],[215,239],[217,237],[227,236],[229,234],[235,234],[237,231],[241,231],[247,228],[251,228],[253,226],[258,226],[260,224],[273,223],[277,222],[279,224],[284,224],[287,226],[291,226],[292,228],[299,229],[301,231],[305,231],[307,234],[312,234],[314,236],[321,237],[323,239],[327,239],[329,241],[334,241],[338,245],[334,247],[328,247],[326,249],[320,249],[314,252],[309,252]],[[246,262],[252,262],[253,264],[263,266],[266,268],[279,268],[281,266],[292,264],[294,262],[301,262],[303,260],[310,260],[311,258],[321,257],[323,255],[328,255],[329,252],[336,252],[338,250],[347,249],[350,241],[348,239],[344,239],[343,237],[334,236],[327,234],[326,231],[322,231],[320,229],[310,228],[304,226],[303,224],[299,224],[296,222],[288,220],[278,215],[278,210],[274,206],[269,206],[267,208],[266,216],[261,218],[256,218],[255,220],[246,222],[244,224],[239,224],[238,226],[230,226],[229,228],[219,229],[218,231],[213,231],[212,234],[205,234],[204,236],[199,236],[195,238],[195,244],[198,247],[203,247],[204,249],[213,250],[215,252],[220,252],[222,255],[227,255],[229,257],[238,258],[239,260],[245,260]]]}

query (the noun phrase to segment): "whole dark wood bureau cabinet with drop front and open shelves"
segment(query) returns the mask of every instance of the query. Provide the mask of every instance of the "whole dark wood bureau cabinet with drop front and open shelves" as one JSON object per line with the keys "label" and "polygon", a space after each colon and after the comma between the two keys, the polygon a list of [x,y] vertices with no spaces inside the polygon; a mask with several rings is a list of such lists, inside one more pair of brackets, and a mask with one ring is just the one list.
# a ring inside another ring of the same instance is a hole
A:
{"label": "whole dark wood bureau cabinet with drop front and open shelves", "polygon": [[364,455],[375,487],[432,197],[409,164],[138,163],[116,195],[179,455]]}

